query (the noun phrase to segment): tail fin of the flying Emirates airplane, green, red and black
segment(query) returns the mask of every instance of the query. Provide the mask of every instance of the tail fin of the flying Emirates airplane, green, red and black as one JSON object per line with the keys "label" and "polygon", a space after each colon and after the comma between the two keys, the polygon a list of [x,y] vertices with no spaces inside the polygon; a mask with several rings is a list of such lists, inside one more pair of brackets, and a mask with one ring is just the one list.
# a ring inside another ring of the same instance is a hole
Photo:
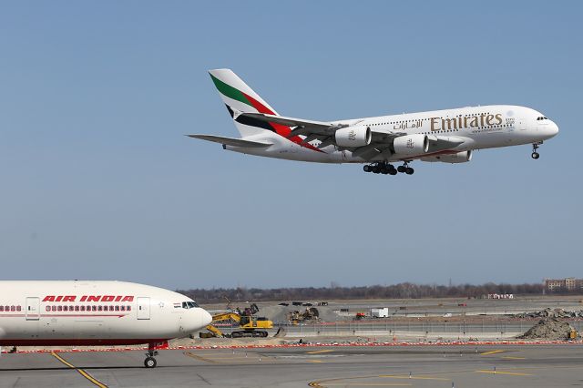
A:
{"label": "tail fin of the flying Emirates airplane, green, red and black", "polygon": [[274,130],[271,123],[251,117],[239,117],[241,113],[277,115],[275,109],[247,86],[240,77],[229,68],[210,70],[209,73],[242,138],[256,135],[263,130]]}

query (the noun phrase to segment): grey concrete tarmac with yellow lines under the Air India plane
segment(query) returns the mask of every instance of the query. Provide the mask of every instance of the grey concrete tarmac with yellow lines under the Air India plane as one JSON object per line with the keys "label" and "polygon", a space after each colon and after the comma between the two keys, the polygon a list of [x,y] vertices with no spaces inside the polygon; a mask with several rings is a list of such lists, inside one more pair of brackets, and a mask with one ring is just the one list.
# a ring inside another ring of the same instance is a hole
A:
{"label": "grey concrete tarmac with yellow lines under the Air India plane", "polygon": [[581,344],[169,350],[157,360],[145,369],[140,351],[2,354],[0,387],[583,385]]}

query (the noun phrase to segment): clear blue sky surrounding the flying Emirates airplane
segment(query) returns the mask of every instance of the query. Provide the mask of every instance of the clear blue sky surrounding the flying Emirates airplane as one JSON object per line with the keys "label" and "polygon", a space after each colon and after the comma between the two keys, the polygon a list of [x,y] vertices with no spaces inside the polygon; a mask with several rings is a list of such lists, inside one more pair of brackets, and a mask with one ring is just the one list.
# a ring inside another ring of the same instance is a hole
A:
{"label": "clear blue sky surrounding the flying Emirates airplane", "polygon": [[[583,277],[583,3],[3,2],[2,279],[168,288]],[[486,104],[540,148],[414,176],[256,158],[207,70],[316,120]]]}

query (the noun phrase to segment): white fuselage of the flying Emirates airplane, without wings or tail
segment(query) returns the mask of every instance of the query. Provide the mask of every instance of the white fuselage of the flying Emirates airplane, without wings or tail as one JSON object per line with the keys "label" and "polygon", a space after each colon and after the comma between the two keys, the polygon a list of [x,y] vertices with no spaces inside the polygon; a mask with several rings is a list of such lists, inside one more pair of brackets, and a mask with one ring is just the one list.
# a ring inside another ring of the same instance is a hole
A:
{"label": "white fuselage of the flying Emirates airplane, without wings or tail", "polygon": [[[428,137],[452,138],[463,140],[459,146],[435,153],[418,155],[379,154],[364,159],[353,156],[350,150],[330,145],[318,148],[320,141],[313,140],[311,148],[305,147],[277,133],[263,131],[249,138],[252,141],[269,142],[269,148],[244,148],[224,146],[244,154],[270,158],[321,162],[321,163],[368,163],[372,161],[394,162],[429,158],[444,154],[471,151],[483,148],[501,148],[524,144],[541,143],[557,134],[557,125],[551,120],[542,119],[543,114],[529,107],[511,105],[491,105],[482,107],[460,107],[401,115],[364,117],[332,121],[333,124],[365,126],[377,132],[399,132],[406,135],[423,134]],[[437,161],[437,160],[435,160]]]}

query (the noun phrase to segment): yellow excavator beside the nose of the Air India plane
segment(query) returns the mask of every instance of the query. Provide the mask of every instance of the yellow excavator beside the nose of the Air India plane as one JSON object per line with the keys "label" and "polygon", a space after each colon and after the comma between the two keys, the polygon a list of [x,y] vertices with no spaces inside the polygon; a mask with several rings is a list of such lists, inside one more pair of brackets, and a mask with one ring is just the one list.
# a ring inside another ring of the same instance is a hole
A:
{"label": "yellow excavator beside the nose of the Air India plane", "polygon": [[[212,322],[207,326],[209,332],[200,332],[200,338],[210,337],[267,337],[267,330],[273,328],[273,322],[265,317],[257,317],[255,314],[259,311],[257,304],[252,303],[250,308],[240,311],[221,312],[212,316]],[[221,332],[220,329],[213,325],[216,322],[232,322],[236,328],[240,329],[230,334]]]}

